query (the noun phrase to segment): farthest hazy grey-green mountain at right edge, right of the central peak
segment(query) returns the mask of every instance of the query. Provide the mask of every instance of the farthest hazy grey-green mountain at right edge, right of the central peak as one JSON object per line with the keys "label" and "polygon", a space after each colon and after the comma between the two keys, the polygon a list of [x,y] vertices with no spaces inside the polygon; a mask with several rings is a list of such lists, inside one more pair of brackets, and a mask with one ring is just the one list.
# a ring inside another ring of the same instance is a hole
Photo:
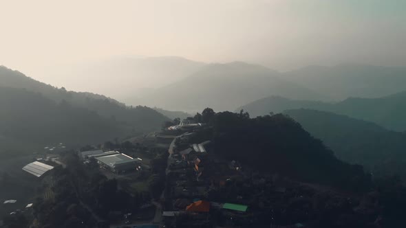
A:
{"label": "farthest hazy grey-green mountain at right edge, right of the central peak", "polygon": [[406,67],[371,65],[310,66],[284,73],[290,80],[334,100],[379,98],[406,91]]}

